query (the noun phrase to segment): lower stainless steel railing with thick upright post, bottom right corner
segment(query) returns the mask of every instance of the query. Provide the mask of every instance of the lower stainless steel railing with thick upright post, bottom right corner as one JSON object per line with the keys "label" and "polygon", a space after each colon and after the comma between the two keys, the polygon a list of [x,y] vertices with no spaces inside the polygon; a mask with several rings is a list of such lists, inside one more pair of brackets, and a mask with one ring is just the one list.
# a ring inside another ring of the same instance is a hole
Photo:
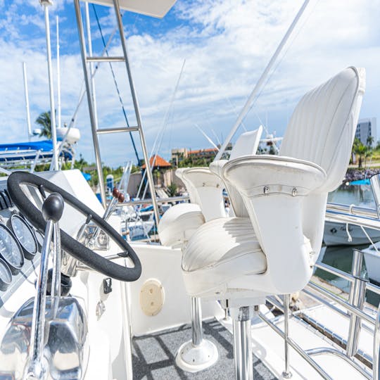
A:
{"label": "lower stainless steel railing with thick upright post, bottom right corner", "polygon": [[[336,344],[334,344],[334,341],[331,340],[332,346],[334,346],[334,348],[321,347],[313,348],[310,350],[303,350],[295,341],[293,341],[293,339],[287,338],[287,343],[289,346],[296,350],[296,352],[298,352],[303,357],[303,359],[305,359],[324,379],[331,379],[331,376],[329,376],[329,374],[324,371],[321,365],[315,362],[313,356],[325,354],[336,355],[348,362],[348,364],[357,370],[357,372],[360,372],[362,376],[365,376],[365,378],[379,380],[380,305],[378,307],[376,317],[365,312],[365,310],[363,310],[363,306],[365,300],[365,291],[372,291],[380,295],[380,287],[374,284],[369,284],[369,281],[362,277],[362,256],[362,251],[358,251],[356,249],[354,250],[352,267],[353,274],[342,272],[341,270],[323,263],[315,264],[315,267],[319,268],[320,270],[335,274],[337,277],[341,277],[347,281],[350,281],[351,285],[348,301],[339,296],[336,296],[336,294],[331,293],[331,291],[324,289],[322,286],[315,283],[315,281],[310,281],[308,286],[303,289],[303,293],[305,293],[307,296],[331,308],[331,310],[337,312],[339,315],[350,319],[350,327],[348,330],[347,339],[339,337],[336,333],[334,333],[334,331],[329,330],[319,322],[315,322],[315,325],[319,327],[319,331],[322,331],[322,334],[325,331],[329,332],[329,334],[323,334],[324,337],[334,337],[335,341],[341,341],[342,344],[338,345],[335,348]],[[282,312],[286,312],[286,307],[284,303],[281,303],[281,300],[273,297],[267,298],[267,300]],[[340,308],[338,308],[336,305],[339,305]],[[346,311],[344,311],[345,309]],[[279,327],[277,327],[273,321],[268,319],[262,313],[259,314],[259,317],[262,319],[262,321],[266,322],[274,331],[276,331],[277,334],[279,334],[282,338],[285,337],[284,331],[279,329]],[[296,317],[298,319],[298,322],[302,324],[308,324],[302,317],[300,317],[300,313],[293,313],[293,317]],[[362,325],[362,320],[366,321],[374,328],[371,329],[365,324]],[[362,327],[365,327],[365,329],[374,336],[372,355],[359,350],[357,347]],[[342,346],[346,348],[345,351],[342,350]]]}

